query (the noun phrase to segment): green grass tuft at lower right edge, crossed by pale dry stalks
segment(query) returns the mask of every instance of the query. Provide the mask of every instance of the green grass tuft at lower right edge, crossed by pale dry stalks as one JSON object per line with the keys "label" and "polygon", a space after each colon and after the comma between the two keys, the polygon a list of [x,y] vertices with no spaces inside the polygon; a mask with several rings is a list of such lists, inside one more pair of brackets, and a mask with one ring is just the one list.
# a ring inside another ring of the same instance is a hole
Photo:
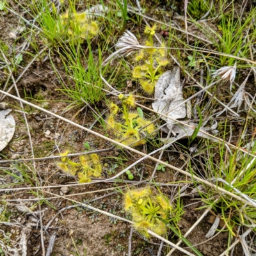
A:
{"label": "green grass tuft at lower right edge, crossed by pale dry stalks", "polygon": [[[216,150],[216,147],[219,147]],[[227,152],[224,145],[209,145],[205,161],[205,175],[219,188],[227,189],[256,205],[256,159],[248,154],[234,151]],[[218,152],[218,153],[216,153]],[[256,143],[252,143],[251,154],[256,153]],[[214,158],[218,157],[218,161]],[[192,170],[191,170],[192,172]],[[255,207],[244,204],[228,195],[213,191],[211,188],[198,191],[205,203],[204,207],[212,207],[212,210],[221,216],[228,232],[236,236],[235,225],[256,224]]]}

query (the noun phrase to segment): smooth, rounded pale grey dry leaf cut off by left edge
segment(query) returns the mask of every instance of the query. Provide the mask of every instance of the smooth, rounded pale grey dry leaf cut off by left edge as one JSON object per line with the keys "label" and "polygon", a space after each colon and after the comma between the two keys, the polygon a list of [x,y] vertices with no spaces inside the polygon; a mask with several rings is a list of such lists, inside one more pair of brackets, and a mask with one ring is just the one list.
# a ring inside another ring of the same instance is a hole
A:
{"label": "smooth, rounded pale grey dry leaf cut off by left edge", "polygon": [[0,111],[0,151],[3,150],[15,132],[15,120],[9,113],[12,109],[3,109]]}

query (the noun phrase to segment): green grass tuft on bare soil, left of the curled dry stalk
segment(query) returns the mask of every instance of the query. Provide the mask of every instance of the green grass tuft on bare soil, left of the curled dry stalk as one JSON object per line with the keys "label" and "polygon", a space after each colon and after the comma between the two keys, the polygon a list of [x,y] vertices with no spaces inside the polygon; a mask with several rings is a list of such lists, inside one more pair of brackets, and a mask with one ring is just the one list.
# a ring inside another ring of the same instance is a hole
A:
{"label": "green grass tuft on bare soil, left of the curled dry stalk", "polygon": [[[100,79],[99,72],[102,63],[101,49],[99,47],[98,60],[93,58],[90,45],[88,46],[87,58],[81,52],[83,52],[81,45],[72,44],[70,45],[70,51],[67,50],[65,54],[61,54],[61,60],[67,74],[67,84],[63,82],[62,77],[56,70],[56,74],[63,86],[60,91],[65,93],[73,102],[76,102],[77,105],[83,105],[84,100],[88,104],[96,104],[105,97],[105,93],[102,91],[104,83]],[[102,70],[102,76],[106,68]]]}

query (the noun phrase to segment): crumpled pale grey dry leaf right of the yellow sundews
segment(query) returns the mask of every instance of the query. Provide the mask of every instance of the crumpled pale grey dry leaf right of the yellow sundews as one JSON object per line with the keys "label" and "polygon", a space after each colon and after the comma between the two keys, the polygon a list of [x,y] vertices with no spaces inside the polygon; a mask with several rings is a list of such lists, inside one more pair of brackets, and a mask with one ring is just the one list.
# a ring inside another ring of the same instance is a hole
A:
{"label": "crumpled pale grey dry leaf right of the yellow sundews", "polygon": [[[182,85],[180,84],[180,68],[175,67],[172,71],[168,70],[159,77],[155,87],[155,101],[152,103],[152,108],[159,112],[166,114],[178,104],[184,101],[182,95]],[[184,118],[186,116],[185,104],[173,109],[166,114],[173,119]],[[175,124],[174,120],[162,117],[166,121],[168,129],[172,129]]]}

